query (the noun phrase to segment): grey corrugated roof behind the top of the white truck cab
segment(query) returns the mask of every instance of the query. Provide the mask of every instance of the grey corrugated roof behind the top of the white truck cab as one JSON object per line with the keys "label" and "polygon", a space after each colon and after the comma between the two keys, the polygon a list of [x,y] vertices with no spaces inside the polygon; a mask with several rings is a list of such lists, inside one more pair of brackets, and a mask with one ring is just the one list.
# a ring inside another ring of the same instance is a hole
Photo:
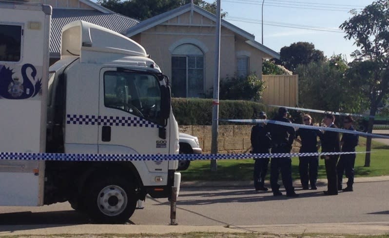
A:
{"label": "grey corrugated roof behind the top of the white truck cab", "polygon": [[103,13],[99,9],[75,10],[54,8],[50,33],[50,53],[52,55],[59,55],[61,30],[63,26],[76,20],[83,20],[94,23],[98,26],[108,28],[118,33],[123,33],[128,28],[133,27],[139,23],[139,21],[134,18],[126,17],[116,13]]}

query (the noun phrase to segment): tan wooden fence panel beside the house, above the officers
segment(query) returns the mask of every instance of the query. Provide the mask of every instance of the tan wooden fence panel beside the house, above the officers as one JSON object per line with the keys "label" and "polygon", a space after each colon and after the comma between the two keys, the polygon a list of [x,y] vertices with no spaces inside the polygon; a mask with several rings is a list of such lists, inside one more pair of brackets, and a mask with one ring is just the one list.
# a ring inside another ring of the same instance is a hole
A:
{"label": "tan wooden fence panel beside the house, above the officers", "polygon": [[268,105],[298,104],[298,75],[262,75],[266,89],[263,102]]}

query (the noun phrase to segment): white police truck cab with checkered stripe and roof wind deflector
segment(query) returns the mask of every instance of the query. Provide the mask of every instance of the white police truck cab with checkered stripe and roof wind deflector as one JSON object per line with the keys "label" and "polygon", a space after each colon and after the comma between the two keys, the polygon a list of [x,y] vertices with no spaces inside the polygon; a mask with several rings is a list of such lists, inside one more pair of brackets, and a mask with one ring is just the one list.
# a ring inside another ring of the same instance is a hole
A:
{"label": "white police truck cab with checkered stripe and roof wind deflector", "polygon": [[[61,59],[49,71],[47,152],[178,153],[168,78],[136,42],[73,22],[62,30]],[[45,204],[69,201],[97,220],[120,222],[146,194],[169,197],[177,165],[167,160],[47,161],[47,187],[55,189],[45,191]]]}

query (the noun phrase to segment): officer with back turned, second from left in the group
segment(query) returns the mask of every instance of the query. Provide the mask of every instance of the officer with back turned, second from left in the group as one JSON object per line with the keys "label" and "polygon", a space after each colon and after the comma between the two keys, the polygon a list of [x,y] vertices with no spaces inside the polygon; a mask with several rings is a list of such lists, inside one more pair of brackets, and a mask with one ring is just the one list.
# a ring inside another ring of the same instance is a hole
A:
{"label": "officer with back turned, second from left in the group", "polygon": [[[286,119],[287,113],[288,110],[285,107],[280,107],[278,108],[278,115],[273,120],[291,123],[289,119]],[[290,153],[295,135],[293,127],[269,123],[268,129],[272,138],[272,153]],[[294,192],[294,187],[292,185],[291,157],[272,158],[270,162],[270,184],[272,186],[273,196],[282,195],[278,184],[278,175],[280,171],[282,183],[286,190],[286,196],[297,197],[298,194]]]}

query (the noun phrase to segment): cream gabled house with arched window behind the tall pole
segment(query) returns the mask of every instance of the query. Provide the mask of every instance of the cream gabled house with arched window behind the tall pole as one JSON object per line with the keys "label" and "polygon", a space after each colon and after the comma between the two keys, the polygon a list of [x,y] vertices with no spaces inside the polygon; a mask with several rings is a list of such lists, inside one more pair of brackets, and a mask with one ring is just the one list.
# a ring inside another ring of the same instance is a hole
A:
{"label": "cream gabled house with arched window behind the tall pole", "polygon": [[[145,47],[172,81],[174,97],[203,98],[213,87],[216,16],[192,3],[146,19],[124,35]],[[262,61],[279,54],[221,20],[220,78],[262,75]]]}

